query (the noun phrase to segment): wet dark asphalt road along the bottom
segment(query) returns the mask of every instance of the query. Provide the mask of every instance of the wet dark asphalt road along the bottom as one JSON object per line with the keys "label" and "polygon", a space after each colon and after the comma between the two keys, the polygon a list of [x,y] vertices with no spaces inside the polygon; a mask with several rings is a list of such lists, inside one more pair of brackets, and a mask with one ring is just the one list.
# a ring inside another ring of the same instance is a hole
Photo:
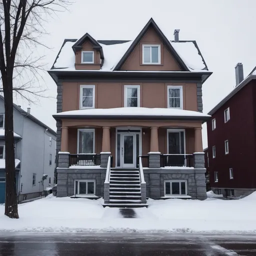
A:
{"label": "wet dark asphalt road along the bottom", "polygon": [[256,235],[0,233],[0,256],[256,256]]}

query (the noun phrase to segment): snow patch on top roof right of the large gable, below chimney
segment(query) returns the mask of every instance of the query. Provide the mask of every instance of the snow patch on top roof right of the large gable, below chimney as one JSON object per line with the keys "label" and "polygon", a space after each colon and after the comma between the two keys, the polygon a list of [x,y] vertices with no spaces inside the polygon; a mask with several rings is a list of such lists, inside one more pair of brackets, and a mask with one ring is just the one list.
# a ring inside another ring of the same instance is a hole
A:
{"label": "snow patch on top roof right of the large gable, below chimney", "polygon": [[171,45],[190,69],[203,69],[205,64],[202,56],[192,41],[171,42]]}

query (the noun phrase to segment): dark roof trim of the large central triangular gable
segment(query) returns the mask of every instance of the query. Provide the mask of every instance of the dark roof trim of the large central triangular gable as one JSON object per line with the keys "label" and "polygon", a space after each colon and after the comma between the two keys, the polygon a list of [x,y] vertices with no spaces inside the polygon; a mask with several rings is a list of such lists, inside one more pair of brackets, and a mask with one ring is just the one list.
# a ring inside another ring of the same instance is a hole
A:
{"label": "dark roof trim of the large central triangular gable", "polygon": [[169,50],[169,52],[174,56],[174,58],[176,59],[178,65],[180,66],[180,68],[184,71],[189,71],[188,67],[186,66],[186,64],[183,62],[183,60],[180,58],[180,56],[177,54],[177,52],[175,51],[175,49],[172,47],[172,45],[170,44],[169,40],[166,38],[166,36],[163,34],[163,32],[161,31],[161,29],[156,25],[156,23],[154,22],[154,20],[152,18],[149,19],[149,21],[146,23],[146,25],[143,27],[143,29],[140,31],[140,33],[137,35],[137,37],[135,38],[135,40],[131,43],[131,45],[129,46],[129,48],[127,49],[127,51],[124,53],[124,55],[122,56],[122,58],[119,60],[119,62],[116,64],[116,66],[114,67],[113,70],[118,70],[120,69],[120,67],[122,66],[122,64],[127,60],[128,56],[130,55],[130,53],[134,50],[134,48],[136,47],[136,45],[139,43],[139,41],[141,40],[141,38],[144,36],[144,34],[146,33],[146,31],[150,28],[153,27],[154,30],[156,31],[157,35],[160,37],[160,39],[162,39],[163,44],[165,45],[165,47]]}

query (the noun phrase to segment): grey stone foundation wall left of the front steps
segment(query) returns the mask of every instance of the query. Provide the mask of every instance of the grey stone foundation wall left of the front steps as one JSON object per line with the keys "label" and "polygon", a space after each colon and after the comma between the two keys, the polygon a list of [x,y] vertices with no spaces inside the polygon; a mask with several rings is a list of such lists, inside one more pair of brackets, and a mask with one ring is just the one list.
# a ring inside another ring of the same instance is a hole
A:
{"label": "grey stone foundation wall left of the front steps", "polygon": [[71,196],[74,194],[75,179],[93,179],[95,180],[95,195],[101,197],[104,195],[104,181],[106,169],[69,169],[57,168],[57,197]]}

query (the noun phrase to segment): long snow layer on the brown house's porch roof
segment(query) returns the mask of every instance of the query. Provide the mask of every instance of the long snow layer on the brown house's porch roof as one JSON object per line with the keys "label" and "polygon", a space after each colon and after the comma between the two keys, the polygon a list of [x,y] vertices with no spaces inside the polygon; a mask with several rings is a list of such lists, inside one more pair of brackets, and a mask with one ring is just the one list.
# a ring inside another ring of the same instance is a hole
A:
{"label": "long snow layer on the brown house's porch roof", "polygon": [[209,117],[210,115],[177,108],[147,108],[147,107],[116,107],[116,108],[91,108],[72,111],[59,112],[56,116],[61,115],[133,115],[133,116],[201,116]]}

